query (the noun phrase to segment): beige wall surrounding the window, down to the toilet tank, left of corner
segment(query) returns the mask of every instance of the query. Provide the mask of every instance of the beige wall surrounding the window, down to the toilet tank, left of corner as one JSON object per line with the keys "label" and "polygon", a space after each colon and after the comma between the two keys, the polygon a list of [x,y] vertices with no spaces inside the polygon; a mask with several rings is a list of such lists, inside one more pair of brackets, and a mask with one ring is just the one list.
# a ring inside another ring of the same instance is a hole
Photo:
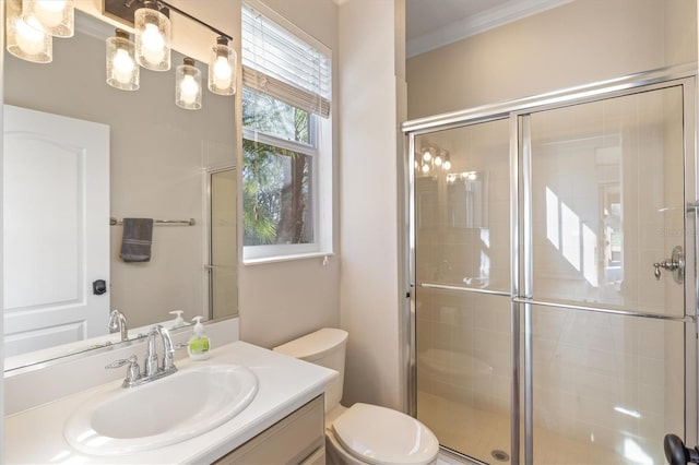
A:
{"label": "beige wall surrounding the window, down to the toilet tank, left of corner", "polygon": [[[330,0],[263,3],[333,50],[332,116],[337,128],[337,7]],[[336,147],[339,135],[334,132]],[[335,166],[336,148],[332,157]],[[339,174],[332,171],[334,255],[327,265],[322,258],[242,265],[238,283],[241,339],[271,348],[317,329],[340,325]]]}

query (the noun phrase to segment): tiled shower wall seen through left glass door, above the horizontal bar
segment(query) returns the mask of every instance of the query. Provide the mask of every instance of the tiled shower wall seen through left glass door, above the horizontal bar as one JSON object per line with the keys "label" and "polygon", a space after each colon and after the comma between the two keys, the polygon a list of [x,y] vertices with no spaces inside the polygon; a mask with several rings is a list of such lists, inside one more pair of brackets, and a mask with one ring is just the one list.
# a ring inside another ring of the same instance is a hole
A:
{"label": "tiled shower wall seen through left glass door, above the horizontal bar", "polygon": [[508,120],[416,138],[416,151],[418,281],[509,293]]}

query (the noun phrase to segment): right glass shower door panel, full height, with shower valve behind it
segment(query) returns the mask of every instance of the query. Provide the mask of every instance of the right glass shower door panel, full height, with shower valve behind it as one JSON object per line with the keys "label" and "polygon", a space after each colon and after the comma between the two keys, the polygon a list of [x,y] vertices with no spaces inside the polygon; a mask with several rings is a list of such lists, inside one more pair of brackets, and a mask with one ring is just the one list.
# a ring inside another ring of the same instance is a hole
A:
{"label": "right glass shower door panel, full height, with shower valve behind it", "polygon": [[688,115],[675,85],[520,117],[528,462],[663,463],[685,433]]}

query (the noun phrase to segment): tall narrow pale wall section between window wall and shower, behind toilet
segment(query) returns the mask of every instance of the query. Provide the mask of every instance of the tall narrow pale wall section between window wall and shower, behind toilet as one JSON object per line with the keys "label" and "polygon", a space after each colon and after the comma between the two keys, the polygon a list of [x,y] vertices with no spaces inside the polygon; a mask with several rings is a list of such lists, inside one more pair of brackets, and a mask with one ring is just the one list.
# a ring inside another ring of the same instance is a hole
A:
{"label": "tall narrow pale wall section between window wall and shower, behind toilet", "polygon": [[341,323],[350,332],[346,405],[363,401],[399,407],[404,385],[396,270],[396,4],[402,2],[350,0],[340,7]]}

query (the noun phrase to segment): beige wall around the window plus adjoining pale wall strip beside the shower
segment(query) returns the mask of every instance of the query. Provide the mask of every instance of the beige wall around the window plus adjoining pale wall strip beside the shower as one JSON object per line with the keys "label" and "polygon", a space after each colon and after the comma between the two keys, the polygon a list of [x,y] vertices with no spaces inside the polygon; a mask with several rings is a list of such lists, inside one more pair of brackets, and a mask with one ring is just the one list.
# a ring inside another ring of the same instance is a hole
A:
{"label": "beige wall around the window plus adjoining pale wall strip beside the shower", "polygon": [[350,333],[343,402],[400,407],[405,388],[398,282],[404,2],[263,3],[332,49],[335,255],[325,266],[322,259],[244,266],[241,338],[272,347],[322,326],[340,326]]}

